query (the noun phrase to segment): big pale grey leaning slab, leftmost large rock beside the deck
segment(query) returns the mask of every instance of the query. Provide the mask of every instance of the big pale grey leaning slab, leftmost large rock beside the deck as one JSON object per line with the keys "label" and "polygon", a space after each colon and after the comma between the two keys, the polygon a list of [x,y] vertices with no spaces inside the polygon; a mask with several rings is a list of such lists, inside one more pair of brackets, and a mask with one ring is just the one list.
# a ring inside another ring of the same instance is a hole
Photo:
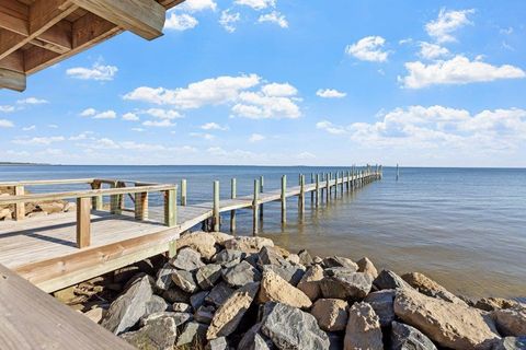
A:
{"label": "big pale grey leaning slab, leftmost large rock beside the deck", "polygon": [[106,312],[101,326],[119,335],[134,327],[146,313],[146,305],[153,295],[153,280],[148,275],[134,281]]}

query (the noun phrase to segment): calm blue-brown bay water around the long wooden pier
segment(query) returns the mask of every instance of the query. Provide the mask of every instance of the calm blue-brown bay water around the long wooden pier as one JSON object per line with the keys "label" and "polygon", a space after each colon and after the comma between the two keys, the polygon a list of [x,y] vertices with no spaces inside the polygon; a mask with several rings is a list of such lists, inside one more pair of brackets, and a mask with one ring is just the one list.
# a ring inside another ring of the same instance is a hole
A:
{"label": "calm blue-brown bay water around the long wooden pier", "polygon": [[[211,182],[221,197],[230,196],[230,178],[238,196],[250,195],[253,179],[264,176],[265,190],[277,189],[286,174],[344,168],[258,166],[0,166],[0,180],[105,177],[145,182],[188,180],[188,203],[209,201]],[[345,168],[346,171],[347,168]],[[378,268],[421,271],[449,290],[471,296],[526,296],[526,170],[385,168],[384,179],[353,195],[339,196],[318,210],[306,198],[302,221],[297,199],[288,199],[286,228],[279,203],[264,206],[262,236],[293,252],[368,256]],[[59,189],[68,189],[61,186]],[[78,187],[77,187],[78,188]],[[43,190],[33,188],[32,190]],[[50,188],[45,188],[49,190]],[[227,219],[227,218],[226,218]],[[238,212],[238,234],[251,234],[252,215]],[[228,220],[224,231],[229,230]],[[0,247],[1,248],[1,247]]]}

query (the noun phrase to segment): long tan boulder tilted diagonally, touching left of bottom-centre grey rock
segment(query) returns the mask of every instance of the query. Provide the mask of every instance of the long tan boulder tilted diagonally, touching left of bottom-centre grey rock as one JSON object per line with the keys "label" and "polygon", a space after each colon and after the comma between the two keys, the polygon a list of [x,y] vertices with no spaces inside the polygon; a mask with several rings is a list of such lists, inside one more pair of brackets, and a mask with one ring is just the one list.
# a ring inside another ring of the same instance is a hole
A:
{"label": "long tan boulder tilted diagonally, touching left of bottom-centre grey rock", "polygon": [[231,335],[238,328],[241,317],[249,310],[259,289],[260,283],[255,282],[241,287],[233,292],[214,315],[206,338],[215,339]]}

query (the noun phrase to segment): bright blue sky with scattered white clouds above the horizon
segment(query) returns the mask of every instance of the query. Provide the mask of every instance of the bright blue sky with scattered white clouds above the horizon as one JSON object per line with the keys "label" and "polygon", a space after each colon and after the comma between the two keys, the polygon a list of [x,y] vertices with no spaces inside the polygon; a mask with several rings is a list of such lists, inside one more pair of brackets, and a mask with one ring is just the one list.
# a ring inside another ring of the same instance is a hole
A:
{"label": "bright blue sky with scattered white clouds above the horizon", "polygon": [[0,90],[0,161],[526,166],[526,2],[187,0]]}

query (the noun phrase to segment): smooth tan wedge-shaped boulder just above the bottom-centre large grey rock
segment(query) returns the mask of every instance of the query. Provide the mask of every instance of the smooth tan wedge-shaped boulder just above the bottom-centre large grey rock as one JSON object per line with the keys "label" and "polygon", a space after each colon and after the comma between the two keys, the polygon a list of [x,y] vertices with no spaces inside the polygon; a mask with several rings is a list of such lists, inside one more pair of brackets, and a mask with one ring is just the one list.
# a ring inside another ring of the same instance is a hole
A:
{"label": "smooth tan wedge-shaped boulder just above the bottom-centre large grey rock", "polygon": [[304,292],[271,270],[263,272],[258,302],[278,302],[299,308],[308,308],[312,305]]}

